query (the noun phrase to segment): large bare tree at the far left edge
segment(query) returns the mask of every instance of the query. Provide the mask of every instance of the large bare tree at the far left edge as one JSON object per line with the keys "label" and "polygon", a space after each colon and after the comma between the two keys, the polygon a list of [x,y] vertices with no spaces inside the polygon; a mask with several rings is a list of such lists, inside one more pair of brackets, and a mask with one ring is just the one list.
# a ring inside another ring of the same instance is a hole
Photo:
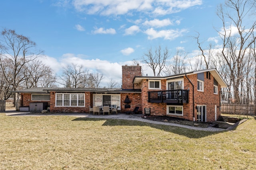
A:
{"label": "large bare tree at the far left edge", "polygon": [[[14,30],[4,29],[0,37],[0,69],[13,90],[18,90],[26,78],[22,71],[27,63],[42,56],[36,50],[36,43]],[[7,69],[9,67],[9,69]],[[14,94],[14,106],[16,94]]]}

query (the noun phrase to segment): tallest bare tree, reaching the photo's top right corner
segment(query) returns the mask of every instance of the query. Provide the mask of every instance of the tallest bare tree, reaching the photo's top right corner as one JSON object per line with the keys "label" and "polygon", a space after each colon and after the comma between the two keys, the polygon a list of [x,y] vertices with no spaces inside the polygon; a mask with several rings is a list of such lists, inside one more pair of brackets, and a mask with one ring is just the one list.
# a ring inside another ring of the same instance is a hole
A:
{"label": "tallest bare tree, reaching the photo's top right corner", "polygon": [[[245,57],[248,48],[254,43],[256,37],[253,37],[253,32],[256,27],[256,20],[252,20],[252,0],[228,0],[223,8],[219,6],[217,15],[222,21],[222,30],[218,31],[222,39],[221,57],[228,65],[230,72],[230,82],[233,87],[234,102],[240,103],[240,89]],[[250,23],[244,23],[249,19]],[[230,23],[230,25],[226,25]],[[235,29],[234,29],[234,27]],[[234,33],[236,32],[236,33]]]}

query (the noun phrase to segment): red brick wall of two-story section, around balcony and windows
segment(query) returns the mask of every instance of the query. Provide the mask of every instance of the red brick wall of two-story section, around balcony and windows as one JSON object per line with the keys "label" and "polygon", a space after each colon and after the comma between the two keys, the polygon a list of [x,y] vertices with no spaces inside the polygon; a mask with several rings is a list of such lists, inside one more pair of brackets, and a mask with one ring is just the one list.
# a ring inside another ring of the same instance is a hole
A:
{"label": "red brick wall of two-story section, around balcony and windows", "polygon": [[[196,106],[197,105],[206,105],[206,120],[214,121],[215,120],[215,105],[217,105],[217,118],[220,115],[220,85],[218,85],[218,95],[213,94],[213,81],[214,78],[211,75],[211,79],[206,78],[206,72],[204,73],[204,92],[197,91],[197,74],[187,76],[192,84],[194,85],[194,106],[193,106],[193,86],[189,80],[184,76],[184,90],[189,89],[189,103],[183,104],[183,116],[184,119],[193,121],[193,107],[194,107],[194,117],[196,121]],[[150,103],[148,102],[148,91],[159,91],[159,90],[148,90],[148,81],[146,79],[142,80],[141,83],[141,100],[142,100],[142,110],[144,108],[150,108],[151,115],[166,115],[167,105],[164,103]],[[161,80],[161,90],[166,90],[166,80]],[[144,112],[143,112],[144,113]]]}

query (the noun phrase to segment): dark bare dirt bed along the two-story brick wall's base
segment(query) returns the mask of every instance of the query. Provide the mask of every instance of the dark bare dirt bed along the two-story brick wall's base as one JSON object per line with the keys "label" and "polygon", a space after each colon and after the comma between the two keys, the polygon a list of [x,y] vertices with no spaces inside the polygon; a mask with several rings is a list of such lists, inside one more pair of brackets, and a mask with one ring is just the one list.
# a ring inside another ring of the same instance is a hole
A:
{"label": "dark bare dirt bed along the two-story brick wall's base", "polygon": [[180,125],[188,125],[194,127],[214,127],[213,123],[210,122],[198,122],[198,121],[189,121],[186,119],[178,118],[178,117],[170,117],[170,116],[142,116],[143,119],[148,119],[152,121],[161,121],[161,122],[168,122],[168,123],[176,123]]}

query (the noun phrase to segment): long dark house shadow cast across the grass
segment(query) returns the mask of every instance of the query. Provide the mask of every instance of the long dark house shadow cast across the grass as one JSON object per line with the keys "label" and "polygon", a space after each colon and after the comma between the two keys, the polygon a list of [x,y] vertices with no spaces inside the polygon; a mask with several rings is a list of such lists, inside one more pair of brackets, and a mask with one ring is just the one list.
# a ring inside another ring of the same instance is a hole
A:
{"label": "long dark house shadow cast across the grass", "polygon": [[202,138],[207,137],[209,135],[217,134],[217,133],[225,133],[226,131],[217,131],[217,132],[211,132],[211,131],[198,131],[193,129],[187,129],[183,127],[175,127],[175,126],[169,126],[169,125],[158,125],[158,124],[152,124],[152,123],[146,123],[141,121],[133,121],[133,120],[122,120],[122,119],[100,119],[100,118],[76,118],[72,121],[102,121],[104,120],[104,123],[102,126],[140,126],[142,127],[152,127],[155,129],[160,129],[163,131],[167,131],[170,133],[176,133],[178,135],[183,135],[189,138]]}

